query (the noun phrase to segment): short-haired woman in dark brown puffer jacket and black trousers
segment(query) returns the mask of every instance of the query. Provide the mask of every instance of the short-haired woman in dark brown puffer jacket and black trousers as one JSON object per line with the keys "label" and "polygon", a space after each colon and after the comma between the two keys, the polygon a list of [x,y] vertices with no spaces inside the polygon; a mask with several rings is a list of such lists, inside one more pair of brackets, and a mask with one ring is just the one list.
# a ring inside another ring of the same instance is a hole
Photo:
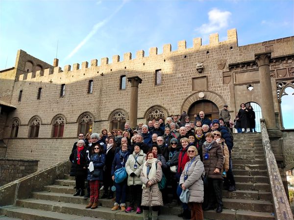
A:
{"label": "short-haired woman in dark brown puffer jacket and black trousers", "polygon": [[206,133],[205,139],[202,156],[207,185],[204,186],[203,210],[213,210],[217,205],[217,212],[220,213],[222,212],[223,153],[221,146],[214,140],[212,132]]}

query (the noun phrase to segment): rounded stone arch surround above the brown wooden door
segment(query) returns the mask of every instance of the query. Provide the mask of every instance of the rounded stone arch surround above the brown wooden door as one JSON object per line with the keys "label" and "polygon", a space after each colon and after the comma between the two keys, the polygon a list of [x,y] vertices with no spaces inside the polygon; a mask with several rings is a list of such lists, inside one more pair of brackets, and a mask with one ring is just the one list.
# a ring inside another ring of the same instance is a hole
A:
{"label": "rounded stone arch surround above the brown wooden door", "polygon": [[[200,92],[203,92],[203,94],[204,94],[203,98],[199,97]],[[227,104],[225,102],[225,100],[221,97],[221,95],[219,95],[218,93],[216,93],[214,91],[201,90],[201,91],[197,91],[197,92],[192,93],[190,96],[188,96],[184,100],[182,107],[181,107],[181,112],[183,112],[183,111],[188,112],[191,105],[193,105],[196,101],[203,100],[203,99],[206,99],[206,100],[213,102],[214,104],[217,105],[217,107],[219,109],[222,109],[223,105]]]}

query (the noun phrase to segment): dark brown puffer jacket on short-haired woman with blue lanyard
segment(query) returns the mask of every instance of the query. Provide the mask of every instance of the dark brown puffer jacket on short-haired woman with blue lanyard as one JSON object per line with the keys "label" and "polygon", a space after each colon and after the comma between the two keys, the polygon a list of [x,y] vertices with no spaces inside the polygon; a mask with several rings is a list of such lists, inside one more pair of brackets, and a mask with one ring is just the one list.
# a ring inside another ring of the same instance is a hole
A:
{"label": "dark brown puffer jacket on short-haired woman with blue lanyard", "polygon": [[[208,159],[205,159],[206,153],[208,154]],[[222,175],[222,168],[223,168],[223,154],[222,154],[221,145],[213,141],[211,149],[207,150],[206,152],[206,147],[203,144],[202,156],[203,156],[203,164],[205,168],[205,173],[208,175],[208,177],[214,178],[214,179],[222,179],[221,175]],[[219,174],[214,173],[216,168],[220,169]]]}

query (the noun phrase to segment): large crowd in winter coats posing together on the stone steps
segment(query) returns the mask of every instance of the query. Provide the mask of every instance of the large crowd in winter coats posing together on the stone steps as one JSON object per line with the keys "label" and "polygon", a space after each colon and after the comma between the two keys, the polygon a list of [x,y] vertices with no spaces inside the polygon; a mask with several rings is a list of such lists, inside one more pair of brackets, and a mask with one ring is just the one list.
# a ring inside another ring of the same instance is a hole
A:
{"label": "large crowd in winter coats posing together on the stone steps", "polygon": [[[230,156],[233,137],[225,119],[211,121],[200,111],[195,121],[183,112],[166,122],[153,119],[134,130],[126,122],[123,131],[80,133],[70,155],[70,175],[76,182],[73,196],[84,196],[87,179],[86,208],[98,207],[103,188],[102,198],[115,202],[111,210],[143,212],[144,220],[149,215],[156,220],[163,204],[171,208],[182,204],[183,219],[202,220],[203,210],[222,212],[223,184],[226,190],[236,190]],[[122,170],[123,179],[117,174]]]}

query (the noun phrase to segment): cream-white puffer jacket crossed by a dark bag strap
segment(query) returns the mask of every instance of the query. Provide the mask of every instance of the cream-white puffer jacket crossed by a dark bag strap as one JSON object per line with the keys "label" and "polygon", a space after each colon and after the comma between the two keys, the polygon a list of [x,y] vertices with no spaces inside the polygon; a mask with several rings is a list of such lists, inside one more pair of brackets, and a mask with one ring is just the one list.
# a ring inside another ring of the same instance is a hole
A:
{"label": "cream-white puffer jacket crossed by a dark bag strap", "polygon": [[[125,163],[125,170],[128,175],[127,177],[127,185],[142,185],[141,181],[141,172],[143,169],[143,165],[146,161],[146,154],[144,154],[143,150],[139,152],[139,155],[137,157],[137,162],[135,160],[135,152],[133,154],[129,155],[126,163]],[[134,168],[134,165],[137,164],[137,168]],[[135,176],[130,176],[131,173],[135,173]]]}

